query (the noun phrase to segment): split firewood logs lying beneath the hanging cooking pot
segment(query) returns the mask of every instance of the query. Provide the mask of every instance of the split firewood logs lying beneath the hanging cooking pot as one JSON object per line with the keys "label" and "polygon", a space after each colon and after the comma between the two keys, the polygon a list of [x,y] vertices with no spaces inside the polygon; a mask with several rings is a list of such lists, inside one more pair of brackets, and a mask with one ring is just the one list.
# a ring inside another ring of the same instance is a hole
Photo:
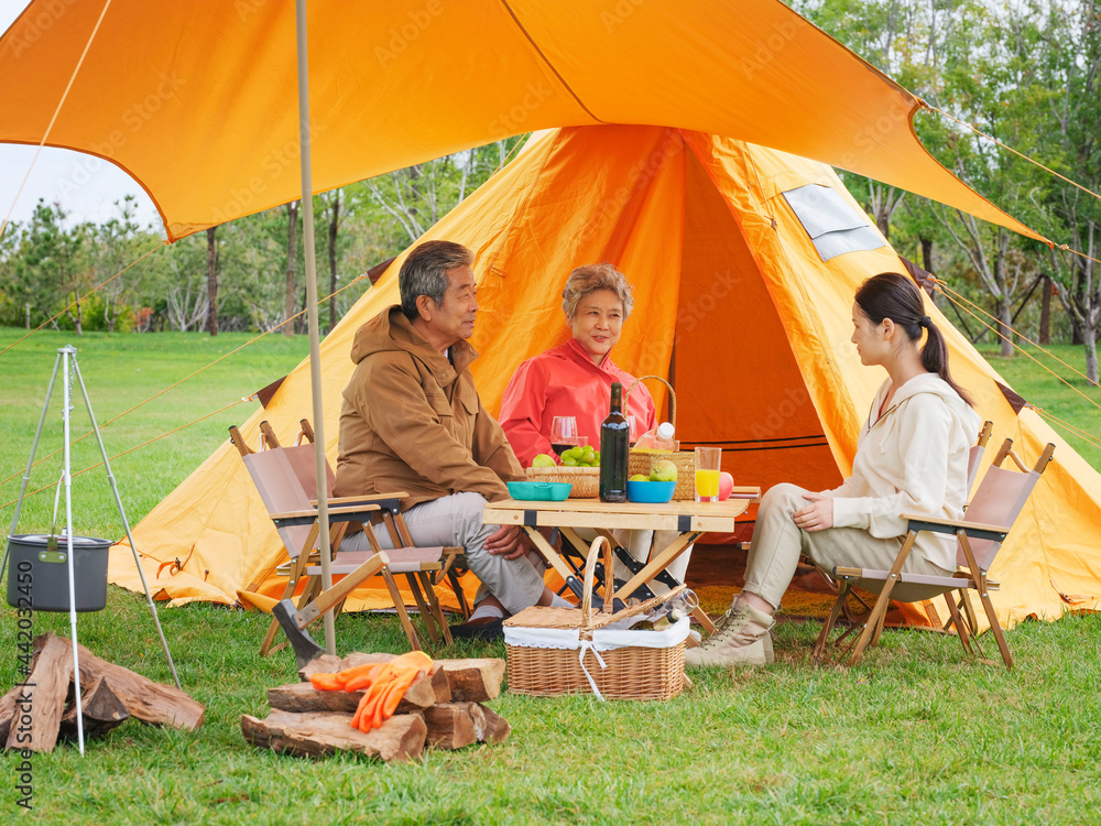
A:
{"label": "split firewood logs lying beneath the hanging cooking pot", "polygon": [[[84,645],[77,652],[85,739],[101,737],[130,717],[188,731],[203,724],[204,707],[178,688],[100,660]],[[46,752],[59,738],[76,737],[73,643],[41,634],[30,674],[0,697],[0,742],[9,750]]]}

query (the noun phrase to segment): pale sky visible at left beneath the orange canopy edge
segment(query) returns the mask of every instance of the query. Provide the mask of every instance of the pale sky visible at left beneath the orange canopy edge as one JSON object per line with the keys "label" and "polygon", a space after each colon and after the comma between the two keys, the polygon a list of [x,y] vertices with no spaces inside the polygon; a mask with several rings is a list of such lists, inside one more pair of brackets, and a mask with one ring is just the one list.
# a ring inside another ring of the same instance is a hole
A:
{"label": "pale sky visible at left beneath the orange canopy edge", "polygon": [[[8,30],[26,4],[26,0],[0,0],[0,32]],[[36,151],[36,146],[0,143],[0,220],[12,210],[11,220],[26,221],[41,198],[47,204],[58,204],[67,213],[67,226],[83,221],[102,224],[119,215],[116,202],[133,195],[138,222],[153,224],[163,232],[153,202],[132,177],[107,161],[80,152],[44,146],[17,200]]]}

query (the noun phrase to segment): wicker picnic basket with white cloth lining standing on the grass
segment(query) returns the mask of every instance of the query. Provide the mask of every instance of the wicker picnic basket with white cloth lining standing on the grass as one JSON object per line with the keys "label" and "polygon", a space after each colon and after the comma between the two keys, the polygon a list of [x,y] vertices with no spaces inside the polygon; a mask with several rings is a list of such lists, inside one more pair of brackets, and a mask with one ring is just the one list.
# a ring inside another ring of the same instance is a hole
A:
{"label": "wicker picnic basket with white cloth lining standing on the grass", "polygon": [[[536,697],[596,694],[601,699],[672,699],[680,694],[688,618],[666,631],[601,630],[639,613],[637,608],[611,613],[610,585],[603,610],[592,610],[592,576],[601,543],[604,570],[612,569],[611,545],[598,536],[585,566],[580,610],[526,608],[504,621],[509,691]],[[651,601],[667,596],[672,593]]]}

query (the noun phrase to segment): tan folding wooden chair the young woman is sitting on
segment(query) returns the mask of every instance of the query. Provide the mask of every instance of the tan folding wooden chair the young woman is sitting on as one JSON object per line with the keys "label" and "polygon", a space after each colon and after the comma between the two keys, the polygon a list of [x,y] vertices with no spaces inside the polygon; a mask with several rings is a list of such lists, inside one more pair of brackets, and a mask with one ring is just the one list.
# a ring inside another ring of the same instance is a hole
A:
{"label": "tan folding wooden chair the young woman is sitting on", "polygon": [[[966,520],[942,520],[903,514],[903,519],[907,520],[906,540],[903,542],[891,570],[836,566],[833,575],[842,580],[841,593],[838,595],[826,620],[826,626],[815,643],[815,659],[822,661],[827,648],[830,645],[839,648],[846,639],[860,631],[860,637],[854,640],[850,639],[849,644],[838,657],[840,662],[848,656],[848,664],[855,665],[863,656],[864,649],[879,641],[880,634],[883,632],[883,620],[892,598],[903,602],[916,602],[931,599],[941,594],[948,597],[948,611],[951,615],[949,627],[956,627],[963,649],[969,654],[978,652],[979,656],[983,657],[979,646],[975,615],[969,596],[970,591],[973,590],[978,593],[979,600],[982,602],[990,630],[994,634],[998,649],[1002,654],[1002,661],[1006,669],[1012,669],[1013,657],[1005,644],[1005,635],[1002,633],[994,606],[990,601],[989,591],[996,590],[999,584],[988,579],[986,572],[1028,500],[1029,493],[1039,481],[1040,474],[1051,460],[1054,452],[1055,445],[1048,444],[1036,465],[1029,469],[1013,452],[1013,441],[1005,439],[968,506]],[[1013,459],[1020,472],[1002,467],[1006,457]],[[903,573],[903,565],[914,546],[914,541],[918,533],[924,531],[956,535],[958,569],[955,575],[929,576]],[[851,596],[854,585],[860,585],[865,590],[874,590],[879,586],[879,597],[871,610],[841,633],[837,640],[830,642],[830,633],[842,607]],[[896,587],[898,588],[897,593],[895,593]],[[957,594],[959,595],[959,604],[955,599]],[[973,651],[972,645],[974,646]],[[989,662],[984,657],[983,661]]]}

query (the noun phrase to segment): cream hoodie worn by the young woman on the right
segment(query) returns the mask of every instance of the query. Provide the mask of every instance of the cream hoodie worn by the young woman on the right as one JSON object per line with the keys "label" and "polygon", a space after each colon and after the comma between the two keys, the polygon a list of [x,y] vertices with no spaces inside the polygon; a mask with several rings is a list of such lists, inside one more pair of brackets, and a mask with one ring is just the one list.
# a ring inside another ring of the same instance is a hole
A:
{"label": "cream hoodie worn by the young woman on the right", "polygon": [[[935,373],[916,376],[895,392],[876,419],[891,387],[880,387],[857,442],[852,476],[836,488],[833,524],[862,528],[872,536],[904,536],[903,513],[960,519],[967,502],[968,450],[982,420]],[[956,540],[922,533],[914,552],[956,570]]]}

